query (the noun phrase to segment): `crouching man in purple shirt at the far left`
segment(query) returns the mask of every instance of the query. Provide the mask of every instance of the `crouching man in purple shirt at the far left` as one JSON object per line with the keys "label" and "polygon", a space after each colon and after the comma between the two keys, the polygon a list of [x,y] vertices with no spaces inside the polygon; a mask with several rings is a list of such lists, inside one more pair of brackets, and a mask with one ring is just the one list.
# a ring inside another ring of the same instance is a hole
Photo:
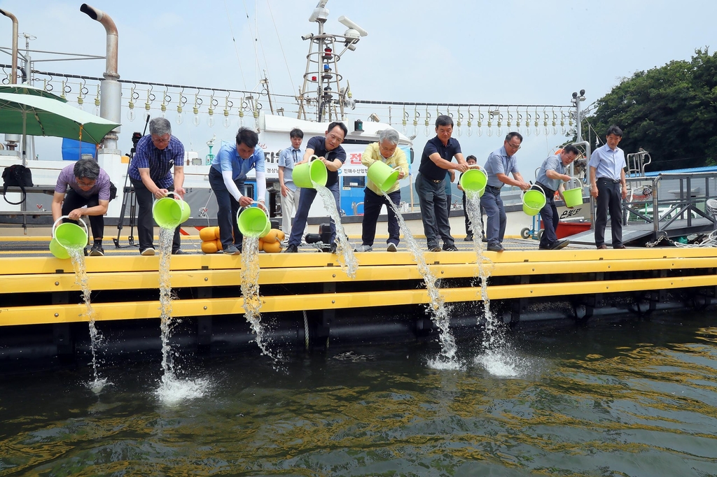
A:
{"label": "crouching man in purple shirt at the far left", "polygon": [[103,256],[104,216],[115,193],[117,188],[96,160],[80,159],[60,171],[52,196],[52,220],[67,216],[65,221],[77,223],[80,217],[88,216],[93,240],[90,256]]}

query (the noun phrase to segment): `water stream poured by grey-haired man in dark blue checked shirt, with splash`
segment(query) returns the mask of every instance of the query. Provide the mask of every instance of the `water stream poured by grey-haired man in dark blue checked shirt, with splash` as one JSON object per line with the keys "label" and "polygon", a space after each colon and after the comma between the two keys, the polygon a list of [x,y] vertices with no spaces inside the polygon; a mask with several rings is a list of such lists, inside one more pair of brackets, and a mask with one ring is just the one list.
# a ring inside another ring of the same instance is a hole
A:
{"label": "water stream poured by grey-haired man in dark blue checked shirt, with splash", "polygon": [[172,327],[172,296],[169,276],[172,239],[174,228],[159,229],[159,318],[162,339],[162,371],[163,375],[156,395],[166,405],[174,405],[183,400],[201,397],[206,392],[205,380],[180,380],[175,376],[172,360],[171,337]]}

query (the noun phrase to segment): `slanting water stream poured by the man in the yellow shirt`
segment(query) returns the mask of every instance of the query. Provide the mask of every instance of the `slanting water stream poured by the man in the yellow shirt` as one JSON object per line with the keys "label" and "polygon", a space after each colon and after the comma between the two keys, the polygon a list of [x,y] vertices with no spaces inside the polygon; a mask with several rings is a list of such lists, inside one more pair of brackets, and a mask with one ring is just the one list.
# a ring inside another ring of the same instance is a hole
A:
{"label": "slanting water stream poured by the man in the yellow shirt", "polygon": [[397,208],[396,204],[391,201],[391,198],[384,192],[386,201],[390,204],[396,214],[396,218],[399,221],[399,227],[404,234],[404,240],[408,245],[408,249],[413,256],[414,261],[418,265],[418,271],[423,276],[423,281],[426,284],[428,291],[428,298],[431,301],[432,317],[431,319],[440,329],[439,341],[441,344],[441,353],[434,360],[429,360],[429,366],[440,370],[457,370],[460,369],[461,364],[456,360],[455,354],[457,347],[455,344],[455,338],[450,332],[450,317],[448,316],[448,310],[446,309],[443,297],[440,294],[440,289],[436,286],[436,277],[433,276],[431,270],[426,264],[426,259],[423,256],[423,252],[411,233],[410,229],[406,225],[401,211]]}

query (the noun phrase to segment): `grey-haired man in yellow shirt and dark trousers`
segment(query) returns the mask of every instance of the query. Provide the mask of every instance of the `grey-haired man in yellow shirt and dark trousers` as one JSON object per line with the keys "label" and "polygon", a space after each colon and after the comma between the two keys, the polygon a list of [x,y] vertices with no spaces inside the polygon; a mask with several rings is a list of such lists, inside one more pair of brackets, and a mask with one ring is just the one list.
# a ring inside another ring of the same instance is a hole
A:
{"label": "grey-haired man in yellow shirt and dark trousers", "polygon": [[[397,130],[389,128],[379,131],[379,142],[366,146],[364,154],[361,155],[361,164],[371,167],[372,164],[381,161],[390,168],[400,168],[399,180],[406,177],[408,175],[408,161],[406,160],[406,153],[398,147],[399,139]],[[399,206],[399,203],[401,203],[401,190],[398,180],[386,190],[386,196],[389,196],[396,207]],[[397,250],[401,232],[399,221],[386,196],[384,196],[379,186],[371,179],[366,178],[364,221],[361,223],[361,245],[356,247],[356,251],[371,251],[374,249],[376,222],[379,221],[379,213],[384,204],[389,217],[389,239],[386,241],[386,250]]]}

